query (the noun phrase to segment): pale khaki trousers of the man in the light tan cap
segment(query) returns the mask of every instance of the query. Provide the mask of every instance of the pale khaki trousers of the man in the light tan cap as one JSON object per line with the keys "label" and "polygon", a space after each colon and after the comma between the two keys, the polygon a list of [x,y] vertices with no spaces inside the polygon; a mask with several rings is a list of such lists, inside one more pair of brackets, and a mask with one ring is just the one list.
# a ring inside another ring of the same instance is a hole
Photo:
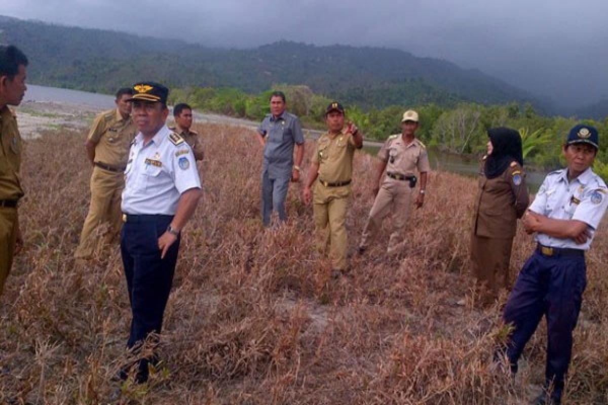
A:
{"label": "pale khaki trousers of the man in the light tan cap", "polygon": [[363,229],[359,247],[367,248],[382,227],[382,220],[391,214],[391,231],[388,250],[392,250],[404,241],[407,220],[412,206],[412,190],[409,182],[387,179],[382,183],[378,195],[371,206],[370,215]]}

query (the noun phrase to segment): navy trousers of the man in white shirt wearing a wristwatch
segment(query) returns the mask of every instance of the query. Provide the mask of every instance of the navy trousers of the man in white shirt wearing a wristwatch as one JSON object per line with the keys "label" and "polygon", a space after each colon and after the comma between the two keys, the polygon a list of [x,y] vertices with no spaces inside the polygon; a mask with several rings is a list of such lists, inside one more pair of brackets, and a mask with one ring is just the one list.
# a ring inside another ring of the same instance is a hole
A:
{"label": "navy trousers of the man in white shirt wearing a wristwatch", "polygon": [[151,332],[161,333],[180,239],[178,237],[161,259],[158,238],[172,219],[173,216],[167,215],[128,216],[122,227],[120,253],[133,314],[127,342],[130,349]]}

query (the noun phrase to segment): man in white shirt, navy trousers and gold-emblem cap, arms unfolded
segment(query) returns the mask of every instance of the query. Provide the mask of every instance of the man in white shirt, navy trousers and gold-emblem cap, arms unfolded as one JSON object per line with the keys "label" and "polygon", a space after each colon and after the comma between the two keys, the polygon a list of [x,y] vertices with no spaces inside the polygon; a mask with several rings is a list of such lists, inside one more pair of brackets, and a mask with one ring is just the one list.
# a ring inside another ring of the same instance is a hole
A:
{"label": "man in white shirt, navy trousers and gold-emblem cap, arms unfolded", "polygon": [[[133,313],[127,347],[137,355],[150,333],[161,332],[180,234],[202,192],[192,149],[165,124],[167,87],[143,82],[133,90],[139,133],[125,169],[120,250]],[[136,362],[137,383],[147,381],[148,363],[155,361],[156,356],[142,356]],[[127,372],[123,368],[120,378]]]}

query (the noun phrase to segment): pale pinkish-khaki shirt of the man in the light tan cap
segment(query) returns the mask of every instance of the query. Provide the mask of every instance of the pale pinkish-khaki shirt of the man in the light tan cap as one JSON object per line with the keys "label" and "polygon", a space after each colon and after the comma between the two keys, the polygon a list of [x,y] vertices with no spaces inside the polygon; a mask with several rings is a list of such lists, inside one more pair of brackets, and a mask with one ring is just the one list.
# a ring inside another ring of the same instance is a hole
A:
{"label": "pale pinkish-khaki shirt of the man in the light tan cap", "polygon": [[406,145],[401,134],[391,135],[382,145],[378,157],[386,162],[386,171],[390,173],[415,175],[416,169],[421,173],[430,171],[426,146],[416,138]]}

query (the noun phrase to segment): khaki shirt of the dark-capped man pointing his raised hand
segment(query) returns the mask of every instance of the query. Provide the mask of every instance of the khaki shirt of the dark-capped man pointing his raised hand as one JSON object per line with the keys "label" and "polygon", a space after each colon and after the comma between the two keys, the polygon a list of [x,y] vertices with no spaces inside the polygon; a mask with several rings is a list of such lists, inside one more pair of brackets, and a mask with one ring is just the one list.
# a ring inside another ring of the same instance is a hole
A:
{"label": "khaki shirt of the dark-capped man pointing his raised hand", "polygon": [[319,165],[319,180],[330,183],[351,180],[356,148],[351,134],[332,135],[326,132],[321,135],[313,155],[313,163]]}

